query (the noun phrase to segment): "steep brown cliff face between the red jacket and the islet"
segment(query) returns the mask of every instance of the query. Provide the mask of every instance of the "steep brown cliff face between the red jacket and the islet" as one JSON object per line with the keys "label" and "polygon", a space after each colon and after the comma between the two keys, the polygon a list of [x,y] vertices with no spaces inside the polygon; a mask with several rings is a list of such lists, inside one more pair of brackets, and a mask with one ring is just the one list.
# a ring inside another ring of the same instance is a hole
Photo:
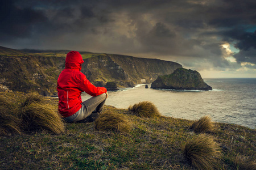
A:
{"label": "steep brown cliff face between the red jacket and the islet", "polygon": [[118,82],[119,87],[151,83],[159,75],[171,74],[179,63],[160,59],[106,54],[84,59],[82,73],[92,82]]}

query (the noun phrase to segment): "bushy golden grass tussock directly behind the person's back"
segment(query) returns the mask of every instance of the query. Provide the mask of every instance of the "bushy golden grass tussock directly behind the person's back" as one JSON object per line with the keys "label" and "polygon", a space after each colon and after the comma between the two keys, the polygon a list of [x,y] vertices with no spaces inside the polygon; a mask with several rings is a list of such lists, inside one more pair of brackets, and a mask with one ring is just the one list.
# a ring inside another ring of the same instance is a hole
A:
{"label": "bushy golden grass tussock directly behind the person's back", "polygon": [[20,119],[26,131],[47,129],[55,134],[64,132],[64,122],[59,116],[57,108],[50,104],[22,105]]}

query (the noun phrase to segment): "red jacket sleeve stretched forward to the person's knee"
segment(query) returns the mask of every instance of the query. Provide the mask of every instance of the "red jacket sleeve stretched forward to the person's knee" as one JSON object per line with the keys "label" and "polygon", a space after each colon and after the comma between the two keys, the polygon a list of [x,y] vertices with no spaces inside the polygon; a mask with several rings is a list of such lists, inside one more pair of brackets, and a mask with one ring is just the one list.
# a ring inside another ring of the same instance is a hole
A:
{"label": "red jacket sleeve stretched forward to the person's knee", "polygon": [[85,91],[86,94],[91,96],[98,96],[107,92],[105,87],[96,87],[86,78],[84,74],[81,75],[81,82],[79,89]]}

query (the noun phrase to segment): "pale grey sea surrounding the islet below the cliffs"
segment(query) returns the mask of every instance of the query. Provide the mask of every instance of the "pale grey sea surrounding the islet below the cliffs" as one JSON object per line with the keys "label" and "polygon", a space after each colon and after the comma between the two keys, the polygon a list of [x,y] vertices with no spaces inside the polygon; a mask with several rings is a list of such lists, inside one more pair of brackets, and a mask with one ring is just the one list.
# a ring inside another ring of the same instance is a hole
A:
{"label": "pale grey sea surrounding the islet below the cliffs", "polygon": [[[256,129],[256,78],[205,78],[204,81],[213,90],[155,90],[138,84],[134,88],[109,91],[105,104],[127,109],[135,103],[151,101],[164,116],[198,120],[209,115],[214,122]],[[90,97],[85,93],[81,96],[83,101]]]}

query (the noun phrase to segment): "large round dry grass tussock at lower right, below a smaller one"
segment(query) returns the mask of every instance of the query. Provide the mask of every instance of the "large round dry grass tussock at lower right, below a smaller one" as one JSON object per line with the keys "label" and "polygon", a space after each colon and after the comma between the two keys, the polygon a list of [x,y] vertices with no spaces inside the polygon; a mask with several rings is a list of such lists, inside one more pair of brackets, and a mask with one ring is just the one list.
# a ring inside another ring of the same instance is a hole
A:
{"label": "large round dry grass tussock at lower right, below a smaller one", "polygon": [[185,159],[197,169],[214,169],[218,166],[220,151],[213,137],[199,134],[185,143]]}

